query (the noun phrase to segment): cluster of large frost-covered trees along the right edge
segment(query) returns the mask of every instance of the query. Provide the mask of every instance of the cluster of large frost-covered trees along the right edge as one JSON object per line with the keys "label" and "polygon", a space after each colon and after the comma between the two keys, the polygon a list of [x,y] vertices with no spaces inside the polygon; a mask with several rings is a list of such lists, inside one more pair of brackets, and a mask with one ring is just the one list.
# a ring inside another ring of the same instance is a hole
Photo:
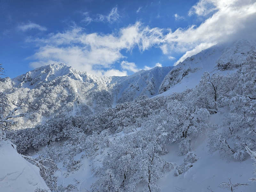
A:
{"label": "cluster of large frost-covered trees along the right edge", "polygon": [[224,117],[223,129],[210,133],[208,140],[211,152],[219,150],[239,161],[245,159],[246,147],[256,147],[256,57],[251,54],[236,73],[222,77],[225,92],[219,95],[219,104],[228,107],[230,114]]}

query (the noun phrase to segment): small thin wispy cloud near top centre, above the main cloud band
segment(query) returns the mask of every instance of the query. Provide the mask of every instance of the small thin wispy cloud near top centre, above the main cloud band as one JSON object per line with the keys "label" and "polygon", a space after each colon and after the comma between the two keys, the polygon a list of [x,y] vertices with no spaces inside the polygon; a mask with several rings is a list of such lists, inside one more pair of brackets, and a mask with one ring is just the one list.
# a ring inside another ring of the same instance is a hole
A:
{"label": "small thin wispy cloud near top centre, above the main cloud band", "polygon": [[120,15],[117,11],[117,7],[112,8],[108,15],[97,14],[93,18],[90,17],[89,12],[84,12],[83,15],[85,16],[85,18],[82,21],[85,22],[86,25],[89,25],[92,22],[104,22],[104,21],[113,23],[119,20],[120,18]]}

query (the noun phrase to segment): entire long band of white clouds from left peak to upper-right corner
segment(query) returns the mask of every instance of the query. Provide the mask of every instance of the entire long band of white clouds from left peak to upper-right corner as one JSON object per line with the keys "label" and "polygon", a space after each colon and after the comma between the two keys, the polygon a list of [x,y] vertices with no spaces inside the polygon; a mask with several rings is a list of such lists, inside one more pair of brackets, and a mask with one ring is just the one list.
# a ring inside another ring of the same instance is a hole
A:
{"label": "entire long band of white clouds from left peak to upper-right corner", "polygon": [[[170,60],[175,59],[171,56],[174,53],[185,53],[175,63],[178,64],[186,57],[214,44],[244,38],[244,34],[248,38],[256,38],[254,32],[256,30],[256,3],[251,3],[249,0],[212,0],[211,2],[216,7],[215,12],[198,27],[192,25],[185,29],[178,28],[172,31],[149,28],[136,22],[113,34],[87,34],[83,28],[75,27],[62,33],[49,34],[44,38],[28,38],[28,42],[33,42],[39,47],[30,58],[33,59],[31,66],[37,67],[54,61],[64,62],[78,70],[99,76],[107,74],[106,71],[109,71],[108,74],[125,75],[126,70],[137,72],[140,68],[135,63],[123,61],[121,67],[124,71],[115,71],[113,64],[125,58],[121,53],[122,50],[132,51],[134,47],[138,47],[143,52],[156,47],[160,48]],[[208,12],[207,6],[202,8],[198,4],[193,8],[194,14],[205,15]],[[117,9],[113,9],[111,12],[114,14]],[[209,9],[212,10],[211,7]],[[113,18],[116,17],[113,16],[110,20]],[[149,68],[144,66],[144,69]]]}

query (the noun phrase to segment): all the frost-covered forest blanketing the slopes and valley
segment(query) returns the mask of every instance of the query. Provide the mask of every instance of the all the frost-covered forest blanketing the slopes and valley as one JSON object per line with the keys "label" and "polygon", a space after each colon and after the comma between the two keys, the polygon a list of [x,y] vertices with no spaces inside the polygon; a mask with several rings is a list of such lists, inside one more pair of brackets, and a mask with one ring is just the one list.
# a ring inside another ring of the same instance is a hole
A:
{"label": "all the frost-covered forest blanketing the slopes and valley", "polygon": [[[97,178],[92,191],[135,192],[142,186],[144,191],[155,192],[160,190],[158,180],[174,169],[173,164],[162,158],[168,153],[168,145],[175,143],[180,154],[185,155],[184,163],[175,170],[176,175],[196,163],[198,157],[191,152],[191,144],[207,132],[210,132],[208,147],[212,153],[220,151],[242,161],[246,147],[255,149],[255,74],[252,56],[232,74],[210,76],[205,73],[200,84],[192,89],[154,98],[140,95],[133,99],[134,95],[129,95],[129,102],[117,101],[114,108],[108,108],[108,101],[113,97],[110,93],[92,91],[89,94],[76,84],[86,97],[93,98],[81,110],[79,106],[84,98],[80,98],[72,86],[74,81],[68,77],[52,80],[40,84],[34,91],[24,88],[24,94],[16,90],[17,97],[11,98],[16,102],[20,102],[18,98],[28,100],[25,105],[21,104],[32,110],[35,122],[47,120],[36,125],[31,119],[27,123],[30,128],[15,134],[6,132],[6,136],[17,144],[20,153],[39,151],[41,158],[64,166],[67,177],[81,169],[83,158],[90,158],[92,173]],[[134,89],[138,86],[134,85]],[[100,109],[108,109],[89,113],[87,104],[90,107],[102,104]],[[226,111],[223,122],[211,125],[208,117],[217,112],[217,107],[223,108],[221,112]],[[59,189],[65,191],[66,187],[59,186]]]}

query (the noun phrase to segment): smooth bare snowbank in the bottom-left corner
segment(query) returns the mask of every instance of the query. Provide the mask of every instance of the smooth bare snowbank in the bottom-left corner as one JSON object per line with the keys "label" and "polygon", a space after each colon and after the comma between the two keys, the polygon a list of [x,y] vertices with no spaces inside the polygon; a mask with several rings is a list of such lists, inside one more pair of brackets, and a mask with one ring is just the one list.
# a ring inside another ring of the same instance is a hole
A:
{"label": "smooth bare snowbank in the bottom-left corner", "polygon": [[33,192],[49,188],[39,174],[39,168],[29,163],[16,151],[10,141],[0,142],[0,191]]}

